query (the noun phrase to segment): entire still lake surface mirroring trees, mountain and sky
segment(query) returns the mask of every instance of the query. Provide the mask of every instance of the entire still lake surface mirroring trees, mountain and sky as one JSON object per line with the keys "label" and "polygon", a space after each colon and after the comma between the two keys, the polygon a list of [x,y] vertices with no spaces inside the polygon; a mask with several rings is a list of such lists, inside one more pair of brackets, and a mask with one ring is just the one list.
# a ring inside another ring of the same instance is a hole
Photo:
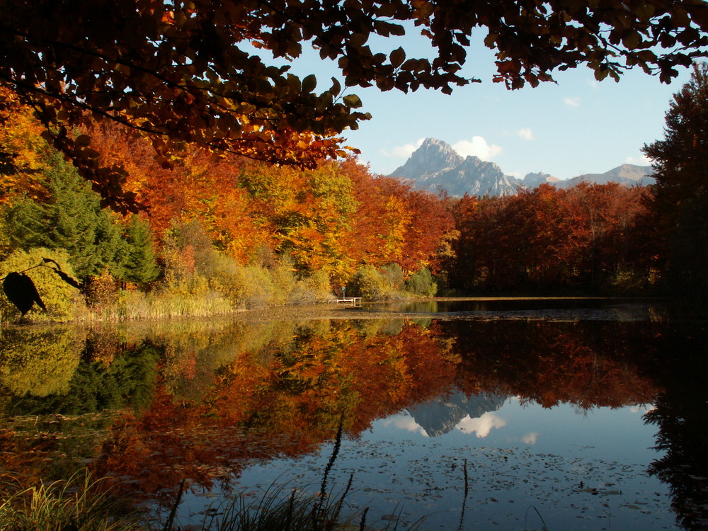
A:
{"label": "entire still lake surface mirroring trees, mountain and sky", "polygon": [[705,321],[607,299],[328,317],[6,329],[2,472],[90,467],[163,515],[186,479],[198,524],[230,496],[319,491],[341,423],[326,490],[351,478],[369,523],[706,528]]}

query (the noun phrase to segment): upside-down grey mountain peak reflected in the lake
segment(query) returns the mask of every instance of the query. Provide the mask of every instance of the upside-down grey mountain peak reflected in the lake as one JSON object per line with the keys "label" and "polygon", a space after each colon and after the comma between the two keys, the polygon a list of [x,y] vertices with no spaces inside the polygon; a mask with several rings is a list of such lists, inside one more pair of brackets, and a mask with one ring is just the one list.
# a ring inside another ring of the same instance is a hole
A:
{"label": "upside-down grey mountain peak reflected in the lake", "polygon": [[497,394],[467,396],[457,392],[410,407],[408,412],[416,424],[426,430],[428,436],[438,437],[454,430],[459,421],[468,415],[470,418],[478,418],[488,411],[497,411],[506,399],[506,396]]}

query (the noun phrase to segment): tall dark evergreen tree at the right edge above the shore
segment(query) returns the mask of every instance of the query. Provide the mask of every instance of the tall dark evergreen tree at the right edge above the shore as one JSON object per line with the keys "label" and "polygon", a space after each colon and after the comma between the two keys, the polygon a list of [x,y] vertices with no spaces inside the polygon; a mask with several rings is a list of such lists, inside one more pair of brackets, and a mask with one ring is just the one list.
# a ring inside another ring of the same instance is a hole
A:
{"label": "tall dark evergreen tree at the right edge above the shore", "polygon": [[656,177],[653,208],[661,223],[665,278],[673,290],[708,297],[708,64],[666,113],[663,140],[644,146]]}

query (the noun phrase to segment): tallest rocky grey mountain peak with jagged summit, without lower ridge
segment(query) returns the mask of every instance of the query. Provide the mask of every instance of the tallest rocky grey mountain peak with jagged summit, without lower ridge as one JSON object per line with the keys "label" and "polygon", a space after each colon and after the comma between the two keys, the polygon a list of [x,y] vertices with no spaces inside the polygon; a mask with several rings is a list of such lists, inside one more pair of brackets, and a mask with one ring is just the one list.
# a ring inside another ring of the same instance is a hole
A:
{"label": "tallest rocky grey mountain peak with jagged summit, without lower ridge", "polygon": [[391,177],[404,178],[415,188],[437,192],[441,188],[453,197],[470,195],[511,195],[517,185],[499,166],[476,156],[463,159],[450,144],[427,138]]}

